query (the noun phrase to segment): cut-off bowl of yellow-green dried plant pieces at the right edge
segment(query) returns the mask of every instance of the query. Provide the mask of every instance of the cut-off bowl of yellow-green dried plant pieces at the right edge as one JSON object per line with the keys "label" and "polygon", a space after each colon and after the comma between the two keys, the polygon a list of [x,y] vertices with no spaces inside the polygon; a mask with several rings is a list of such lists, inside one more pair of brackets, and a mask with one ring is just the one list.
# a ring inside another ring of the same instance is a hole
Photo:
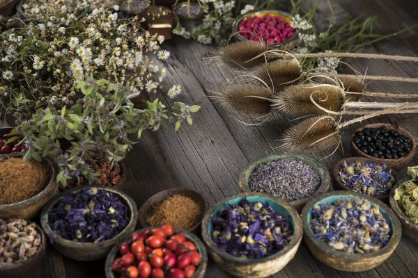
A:
{"label": "cut-off bowl of yellow-green dried plant pieces at the right edge", "polygon": [[418,243],[418,179],[400,181],[392,189],[389,201],[401,221],[403,234]]}

